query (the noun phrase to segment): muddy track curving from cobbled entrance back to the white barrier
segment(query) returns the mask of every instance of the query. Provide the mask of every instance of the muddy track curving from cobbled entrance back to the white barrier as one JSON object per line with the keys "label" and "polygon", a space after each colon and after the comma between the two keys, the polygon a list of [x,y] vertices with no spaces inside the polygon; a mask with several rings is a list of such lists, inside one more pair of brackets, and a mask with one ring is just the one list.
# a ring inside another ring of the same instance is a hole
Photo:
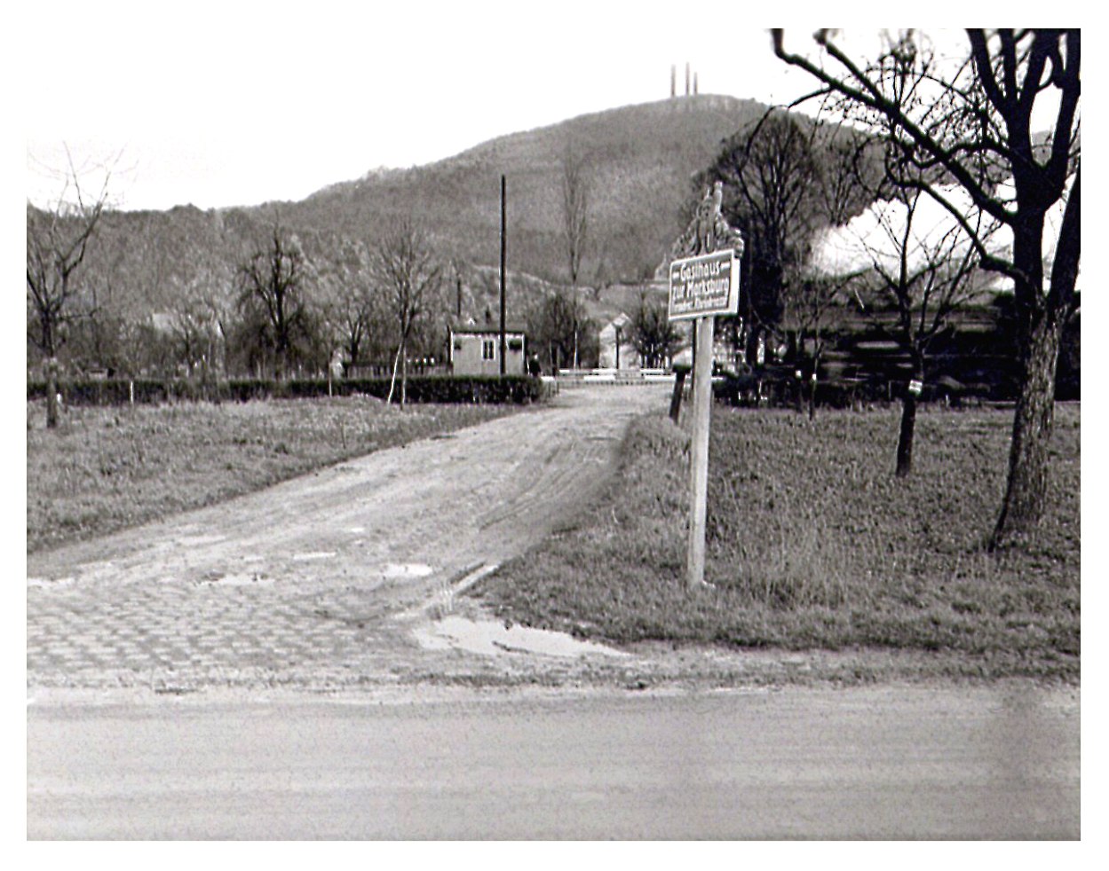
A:
{"label": "muddy track curving from cobbled entrance back to the white barrier", "polygon": [[572,519],[628,421],[664,409],[667,391],[563,390],[536,411],[31,554],[29,683],[186,691],[441,670],[404,616],[449,611],[454,585]]}

